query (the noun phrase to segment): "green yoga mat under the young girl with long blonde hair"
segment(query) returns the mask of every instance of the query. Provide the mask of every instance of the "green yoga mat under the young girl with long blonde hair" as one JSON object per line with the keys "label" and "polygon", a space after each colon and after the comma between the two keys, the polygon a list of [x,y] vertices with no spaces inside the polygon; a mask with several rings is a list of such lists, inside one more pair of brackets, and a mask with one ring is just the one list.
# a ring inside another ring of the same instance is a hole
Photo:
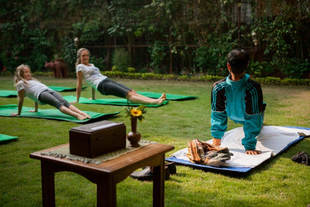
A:
{"label": "green yoga mat under the young girl with long blonde hair", "polygon": [[20,115],[12,116],[11,113],[16,113],[18,106],[15,104],[0,106],[0,116],[11,116],[11,117],[33,117],[33,118],[45,118],[45,119],[56,119],[71,121],[77,123],[88,123],[94,121],[100,121],[108,117],[119,114],[120,112],[102,114],[92,111],[83,111],[91,116],[91,119],[76,120],[74,117],[63,114],[58,109],[38,109],[38,112],[29,112],[29,110],[34,110],[34,108],[24,107],[21,110]]}

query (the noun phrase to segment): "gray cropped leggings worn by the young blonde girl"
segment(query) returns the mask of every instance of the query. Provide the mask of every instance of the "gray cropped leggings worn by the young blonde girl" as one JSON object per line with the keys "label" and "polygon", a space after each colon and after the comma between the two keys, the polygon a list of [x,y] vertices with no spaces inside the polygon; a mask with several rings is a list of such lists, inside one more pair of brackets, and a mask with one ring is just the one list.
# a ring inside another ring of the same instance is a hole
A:
{"label": "gray cropped leggings worn by the young blonde girl", "polygon": [[51,90],[41,92],[38,99],[40,102],[55,106],[59,110],[61,106],[68,108],[71,105],[68,103],[68,101],[64,100],[64,98],[58,92]]}

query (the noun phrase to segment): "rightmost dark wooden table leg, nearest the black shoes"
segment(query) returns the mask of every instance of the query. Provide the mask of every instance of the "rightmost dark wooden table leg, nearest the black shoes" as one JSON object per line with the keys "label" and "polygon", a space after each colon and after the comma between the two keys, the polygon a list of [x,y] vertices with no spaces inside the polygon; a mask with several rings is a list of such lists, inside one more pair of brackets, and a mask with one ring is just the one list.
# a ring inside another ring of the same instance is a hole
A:
{"label": "rightmost dark wooden table leg, nearest the black shoes", "polygon": [[154,167],[153,179],[153,206],[165,205],[165,154],[162,155],[161,164]]}

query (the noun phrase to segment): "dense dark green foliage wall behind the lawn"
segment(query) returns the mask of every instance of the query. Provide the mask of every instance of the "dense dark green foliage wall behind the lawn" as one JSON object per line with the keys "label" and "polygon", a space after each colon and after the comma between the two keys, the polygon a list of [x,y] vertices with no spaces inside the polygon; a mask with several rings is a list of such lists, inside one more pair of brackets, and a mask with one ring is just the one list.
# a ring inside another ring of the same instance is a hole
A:
{"label": "dense dark green foliage wall behind the lawn", "polygon": [[[26,63],[45,71],[78,47],[101,70],[226,75],[232,48],[251,54],[256,77],[310,74],[309,0],[3,0],[0,71]],[[251,33],[255,31],[256,49]]]}

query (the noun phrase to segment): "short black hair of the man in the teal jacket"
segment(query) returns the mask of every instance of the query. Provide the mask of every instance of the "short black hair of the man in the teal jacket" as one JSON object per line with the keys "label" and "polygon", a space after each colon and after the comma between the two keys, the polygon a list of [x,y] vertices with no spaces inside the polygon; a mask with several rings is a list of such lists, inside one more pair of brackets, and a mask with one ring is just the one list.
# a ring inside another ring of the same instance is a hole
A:
{"label": "short black hair of the man in the teal jacket", "polygon": [[243,73],[248,67],[249,53],[244,49],[233,49],[228,53],[227,61],[233,74]]}

